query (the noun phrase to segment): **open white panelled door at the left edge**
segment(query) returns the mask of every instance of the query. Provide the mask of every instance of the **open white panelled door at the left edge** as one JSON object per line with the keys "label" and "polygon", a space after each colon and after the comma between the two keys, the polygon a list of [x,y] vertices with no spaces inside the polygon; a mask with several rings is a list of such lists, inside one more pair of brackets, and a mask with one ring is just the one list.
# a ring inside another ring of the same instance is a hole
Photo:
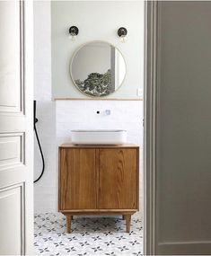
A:
{"label": "open white panelled door at the left edge", "polygon": [[32,3],[0,1],[0,254],[32,253]]}

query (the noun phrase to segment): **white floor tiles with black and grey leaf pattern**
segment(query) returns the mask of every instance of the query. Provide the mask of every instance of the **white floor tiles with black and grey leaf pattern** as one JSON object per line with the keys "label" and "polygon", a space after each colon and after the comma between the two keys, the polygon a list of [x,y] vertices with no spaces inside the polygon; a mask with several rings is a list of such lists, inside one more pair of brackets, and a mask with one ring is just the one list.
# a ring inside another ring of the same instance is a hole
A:
{"label": "white floor tiles with black and grey leaf pattern", "polygon": [[66,234],[62,214],[35,215],[34,248],[38,255],[142,255],[143,223],[132,216],[130,233],[119,217],[75,217]]}

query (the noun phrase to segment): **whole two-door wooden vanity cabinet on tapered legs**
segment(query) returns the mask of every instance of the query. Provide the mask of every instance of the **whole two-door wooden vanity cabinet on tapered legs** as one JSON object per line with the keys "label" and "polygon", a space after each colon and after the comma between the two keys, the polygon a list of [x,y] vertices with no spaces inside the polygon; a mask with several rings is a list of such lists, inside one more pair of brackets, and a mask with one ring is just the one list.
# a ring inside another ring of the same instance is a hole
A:
{"label": "whole two-door wooden vanity cabinet on tapered legs", "polygon": [[122,215],[129,232],[138,210],[139,148],[59,146],[58,211],[67,233],[75,215]]}

